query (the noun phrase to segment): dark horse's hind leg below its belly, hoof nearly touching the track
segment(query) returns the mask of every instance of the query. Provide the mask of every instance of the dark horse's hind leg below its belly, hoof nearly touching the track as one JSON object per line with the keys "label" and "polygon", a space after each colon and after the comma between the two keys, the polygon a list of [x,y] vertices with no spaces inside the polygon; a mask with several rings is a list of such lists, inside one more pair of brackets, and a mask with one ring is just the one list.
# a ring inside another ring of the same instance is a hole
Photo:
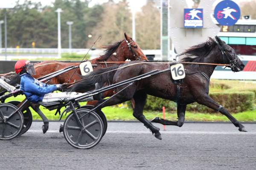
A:
{"label": "dark horse's hind leg below its belly, hoof nearly touching the track", "polygon": [[148,121],[143,115],[143,108],[146,103],[146,97],[147,95],[145,92],[136,92],[134,94],[135,107],[133,115],[140,122],[142,122],[145,127],[149,128],[156,138],[162,140],[161,133],[159,132],[160,129],[151,124],[151,122]]}

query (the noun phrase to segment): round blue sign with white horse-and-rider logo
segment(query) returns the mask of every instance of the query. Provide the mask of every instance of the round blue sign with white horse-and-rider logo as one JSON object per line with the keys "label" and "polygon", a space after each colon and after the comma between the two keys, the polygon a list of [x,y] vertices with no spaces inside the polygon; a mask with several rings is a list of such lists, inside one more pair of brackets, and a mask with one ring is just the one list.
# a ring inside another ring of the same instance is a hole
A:
{"label": "round blue sign with white horse-and-rider logo", "polygon": [[214,17],[222,26],[233,26],[240,17],[240,8],[232,0],[223,0],[214,9]]}

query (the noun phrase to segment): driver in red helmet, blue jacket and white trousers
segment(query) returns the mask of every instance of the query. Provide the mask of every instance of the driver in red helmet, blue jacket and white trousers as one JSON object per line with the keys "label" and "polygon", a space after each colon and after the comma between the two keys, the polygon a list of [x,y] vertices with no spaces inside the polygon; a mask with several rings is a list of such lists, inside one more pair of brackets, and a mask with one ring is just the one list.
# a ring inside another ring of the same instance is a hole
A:
{"label": "driver in red helmet, blue jacket and white trousers", "polygon": [[[61,90],[62,87],[67,84],[55,84],[49,85],[44,84],[31,75],[35,75],[34,64],[27,60],[19,60],[15,63],[15,72],[20,74],[20,90],[24,93],[28,101],[37,103],[39,101],[50,103],[50,102],[67,102],[69,98],[76,98],[83,93],[77,92],[58,92],[52,93],[55,90]],[[95,84],[96,89],[100,86],[98,83]],[[102,94],[93,95],[90,98],[86,98],[85,101],[102,100]]]}

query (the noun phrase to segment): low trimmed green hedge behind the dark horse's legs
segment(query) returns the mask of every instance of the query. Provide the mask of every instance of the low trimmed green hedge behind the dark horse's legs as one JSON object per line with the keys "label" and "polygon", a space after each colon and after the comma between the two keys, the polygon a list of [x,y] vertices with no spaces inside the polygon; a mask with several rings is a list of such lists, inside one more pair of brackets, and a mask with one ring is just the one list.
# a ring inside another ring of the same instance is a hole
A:
{"label": "low trimmed green hedge behind the dark horse's legs", "polygon": [[[211,98],[224,106],[229,112],[243,112],[253,109],[255,101],[255,93],[250,91],[244,92],[212,92],[209,94]],[[169,110],[176,110],[177,105],[169,100],[157,98],[148,95],[145,109],[147,110],[161,110],[162,107],[166,107]],[[194,112],[215,112],[214,110],[205,107],[198,103],[192,103],[187,105],[188,111]]]}

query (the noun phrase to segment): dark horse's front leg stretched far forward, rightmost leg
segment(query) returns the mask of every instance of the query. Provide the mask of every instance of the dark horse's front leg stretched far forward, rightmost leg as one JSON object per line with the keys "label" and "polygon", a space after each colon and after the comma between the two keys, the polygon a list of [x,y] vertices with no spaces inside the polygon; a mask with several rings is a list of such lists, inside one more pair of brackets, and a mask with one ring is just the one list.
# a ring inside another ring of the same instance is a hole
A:
{"label": "dark horse's front leg stretched far forward, rightmost leg", "polygon": [[218,112],[220,112],[221,114],[227,116],[227,118],[236,126],[239,127],[239,131],[240,132],[247,132],[245,127],[238,121],[236,120],[236,118],[234,118],[228,111],[226,108],[224,108],[223,106],[221,106],[220,104],[218,104],[216,101],[212,100],[212,98],[209,95],[204,95],[204,96],[198,96],[197,98],[197,102],[199,104],[203,104],[204,106],[207,106],[211,109],[214,109]]}

